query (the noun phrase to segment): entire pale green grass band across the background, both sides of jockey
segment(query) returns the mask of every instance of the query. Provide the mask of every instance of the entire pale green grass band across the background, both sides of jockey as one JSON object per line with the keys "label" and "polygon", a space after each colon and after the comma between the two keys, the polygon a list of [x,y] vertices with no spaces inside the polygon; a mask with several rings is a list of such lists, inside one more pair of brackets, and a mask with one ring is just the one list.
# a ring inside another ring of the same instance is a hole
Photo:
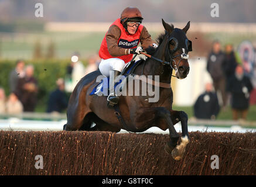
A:
{"label": "entire pale green grass band across the background, both sides of jockey", "polygon": [[[106,31],[107,32],[107,31]],[[159,33],[151,32],[152,39]],[[2,37],[0,54],[2,58],[31,58],[37,40],[42,44],[42,53],[45,54],[47,46],[52,40],[56,47],[57,58],[70,57],[73,51],[80,51],[81,56],[97,53],[105,32],[35,32],[25,34],[12,34]],[[223,44],[233,43],[237,46],[243,40],[255,41],[253,33],[209,33],[206,39],[219,39]]]}

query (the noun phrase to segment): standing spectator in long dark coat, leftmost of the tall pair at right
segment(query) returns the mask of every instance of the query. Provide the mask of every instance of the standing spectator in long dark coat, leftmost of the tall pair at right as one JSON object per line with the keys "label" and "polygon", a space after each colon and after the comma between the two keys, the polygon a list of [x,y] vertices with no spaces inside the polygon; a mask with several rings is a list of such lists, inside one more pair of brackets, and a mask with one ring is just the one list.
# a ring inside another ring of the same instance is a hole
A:
{"label": "standing spectator in long dark coat, leftmost of the tall pair at right", "polygon": [[213,79],[213,86],[216,92],[221,93],[223,107],[226,107],[226,80],[223,71],[224,53],[220,49],[220,42],[214,41],[213,48],[207,60],[207,71]]}

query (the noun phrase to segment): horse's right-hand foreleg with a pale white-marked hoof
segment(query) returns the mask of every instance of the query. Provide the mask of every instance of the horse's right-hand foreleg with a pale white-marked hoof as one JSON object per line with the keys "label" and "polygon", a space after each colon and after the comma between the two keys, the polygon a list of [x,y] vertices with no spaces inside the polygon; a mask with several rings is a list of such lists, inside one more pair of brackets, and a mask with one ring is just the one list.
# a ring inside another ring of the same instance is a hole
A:
{"label": "horse's right-hand foreleg with a pale white-marked hoof", "polygon": [[[187,130],[187,114],[183,111],[170,110],[173,124],[180,122],[182,124],[182,138],[179,146],[175,147],[172,151],[172,157],[180,160],[185,153],[186,145],[189,143],[189,131]],[[181,156],[181,157],[180,157]]]}

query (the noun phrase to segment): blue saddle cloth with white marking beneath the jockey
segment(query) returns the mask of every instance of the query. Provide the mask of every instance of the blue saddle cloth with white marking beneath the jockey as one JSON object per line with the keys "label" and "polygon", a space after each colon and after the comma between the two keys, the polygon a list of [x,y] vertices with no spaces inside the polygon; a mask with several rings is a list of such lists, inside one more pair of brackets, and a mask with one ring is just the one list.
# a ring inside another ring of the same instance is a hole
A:
{"label": "blue saddle cloth with white marking beneath the jockey", "polygon": [[[114,88],[119,85],[123,79],[125,79],[128,75],[129,75],[129,72],[132,70],[132,68],[137,64],[139,63],[140,60],[136,61],[130,68],[129,70],[124,74],[122,75],[122,78],[120,79],[119,82],[116,82],[115,85],[114,85]],[[105,77],[103,79],[101,79],[101,82],[99,84],[97,84],[93,91],[91,91],[90,95],[94,95],[94,94],[97,94],[97,95],[105,95],[105,96],[108,96],[109,95],[109,85],[110,85],[110,77]]]}

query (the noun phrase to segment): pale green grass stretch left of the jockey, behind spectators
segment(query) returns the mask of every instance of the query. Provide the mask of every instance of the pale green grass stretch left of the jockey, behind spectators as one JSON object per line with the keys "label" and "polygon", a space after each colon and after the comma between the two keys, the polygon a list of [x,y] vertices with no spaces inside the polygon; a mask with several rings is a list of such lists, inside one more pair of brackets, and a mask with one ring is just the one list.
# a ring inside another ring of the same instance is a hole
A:
{"label": "pale green grass stretch left of the jockey, behind spectators", "polygon": [[41,44],[42,53],[46,54],[50,41],[53,41],[57,58],[67,58],[74,51],[79,51],[81,57],[89,56],[100,49],[104,37],[100,33],[77,32],[43,32],[28,33],[12,36],[0,40],[0,54],[2,58],[32,58],[36,41]]}

